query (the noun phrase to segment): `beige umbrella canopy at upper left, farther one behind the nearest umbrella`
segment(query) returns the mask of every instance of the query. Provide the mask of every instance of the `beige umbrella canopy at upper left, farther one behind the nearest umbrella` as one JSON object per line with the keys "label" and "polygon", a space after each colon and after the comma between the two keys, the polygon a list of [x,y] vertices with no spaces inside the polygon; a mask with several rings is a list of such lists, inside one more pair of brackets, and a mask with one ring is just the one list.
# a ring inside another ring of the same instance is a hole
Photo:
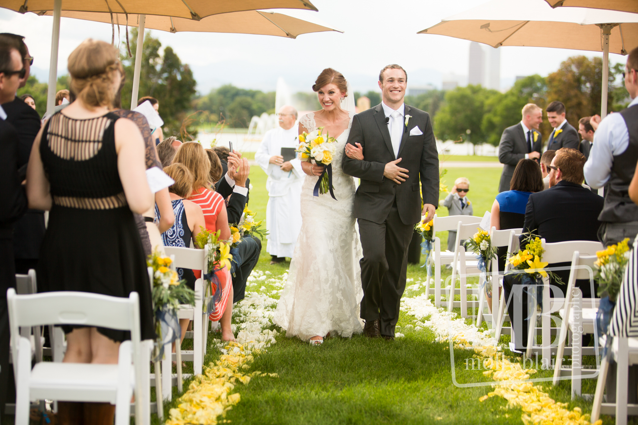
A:
{"label": "beige umbrella canopy at upper left, farther one behind the nearest umbrella", "polygon": [[[213,15],[202,18],[200,21],[192,19],[146,15],[145,29],[159,29],[168,32],[234,32],[237,34],[262,34],[268,36],[281,36],[297,38],[300,34],[322,31],[340,31],[332,25],[322,22],[316,18],[315,13],[305,11],[286,10],[249,10],[221,15]],[[50,15],[51,12],[45,13]],[[315,15],[315,16],[312,16]],[[114,14],[113,21],[109,13],[93,13],[78,11],[62,11],[62,17],[92,20],[110,24],[124,24],[126,17],[124,14]],[[138,16],[129,15],[128,24],[138,26]]]}

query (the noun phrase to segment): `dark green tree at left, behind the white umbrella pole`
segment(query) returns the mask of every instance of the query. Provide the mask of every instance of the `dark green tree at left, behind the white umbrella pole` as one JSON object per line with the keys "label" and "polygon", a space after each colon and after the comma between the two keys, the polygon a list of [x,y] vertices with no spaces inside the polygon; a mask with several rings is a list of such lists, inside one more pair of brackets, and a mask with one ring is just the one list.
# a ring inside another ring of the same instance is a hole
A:
{"label": "dark green tree at left, behind the white umbrella pole", "polygon": [[[137,50],[137,28],[131,29],[131,52]],[[164,120],[164,135],[179,136],[182,120],[186,118],[186,112],[191,109],[191,101],[195,95],[197,82],[193,78],[188,64],[182,64],[174,50],[167,46],[163,55],[159,54],[161,43],[147,32],[142,47],[142,62],[140,71],[139,97],[152,96],[159,101],[159,115]],[[131,104],[131,92],[133,90],[133,67],[135,66],[135,54],[130,58],[126,55],[126,47],[121,50],[122,63],[126,82],[122,88],[122,107],[135,108],[137,99]]]}

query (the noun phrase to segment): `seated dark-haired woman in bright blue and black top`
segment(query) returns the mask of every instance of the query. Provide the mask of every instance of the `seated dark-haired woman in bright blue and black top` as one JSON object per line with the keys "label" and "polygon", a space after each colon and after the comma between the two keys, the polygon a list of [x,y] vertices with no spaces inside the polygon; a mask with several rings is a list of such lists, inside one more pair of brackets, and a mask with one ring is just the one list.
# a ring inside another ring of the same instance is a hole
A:
{"label": "seated dark-haired woman in bright blue and black top", "polygon": [[[525,222],[525,208],[530,195],[544,189],[540,166],[533,159],[521,159],[514,169],[510,190],[496,195],[490,226],[496,230],[519,229]],[[498,270],[505,270],[507,247],[498,247]]]}

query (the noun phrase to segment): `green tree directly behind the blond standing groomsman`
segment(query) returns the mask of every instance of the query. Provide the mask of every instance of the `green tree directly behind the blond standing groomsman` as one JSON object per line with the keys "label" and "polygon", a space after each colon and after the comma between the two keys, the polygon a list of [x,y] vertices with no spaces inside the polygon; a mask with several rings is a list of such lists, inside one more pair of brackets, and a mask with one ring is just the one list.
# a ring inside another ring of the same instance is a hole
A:
{"label": "green tree directly behind the blond standing groomsman", "polygon": [[535,103],[545,108],[546,90],[545,78],[530,75],[518,80],[507,92],[487,99],[481,123],[486,142],[498,146],[503,130],[521,120],[521,110],[526,104]]}

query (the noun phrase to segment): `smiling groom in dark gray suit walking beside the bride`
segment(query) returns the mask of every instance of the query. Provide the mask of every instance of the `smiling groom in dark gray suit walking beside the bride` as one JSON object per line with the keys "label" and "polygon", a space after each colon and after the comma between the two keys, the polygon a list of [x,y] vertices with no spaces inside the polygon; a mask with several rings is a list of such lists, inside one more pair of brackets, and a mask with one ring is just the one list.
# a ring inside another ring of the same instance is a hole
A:
{"label": "smiling groom in dark gray suit walking beside the bride", "polygon": [[383,102],[354,116],[346,144],[346,150],[360,145],[364,160],[344,155],[342,164],[346,174],[361,179],[354,212],[363,248],[364,335],[386,340],[394,340],[414,225],[434,217],[439,194],[432,122],[427,112],[403,103],[407,81],[399,65],[381,70]]}

